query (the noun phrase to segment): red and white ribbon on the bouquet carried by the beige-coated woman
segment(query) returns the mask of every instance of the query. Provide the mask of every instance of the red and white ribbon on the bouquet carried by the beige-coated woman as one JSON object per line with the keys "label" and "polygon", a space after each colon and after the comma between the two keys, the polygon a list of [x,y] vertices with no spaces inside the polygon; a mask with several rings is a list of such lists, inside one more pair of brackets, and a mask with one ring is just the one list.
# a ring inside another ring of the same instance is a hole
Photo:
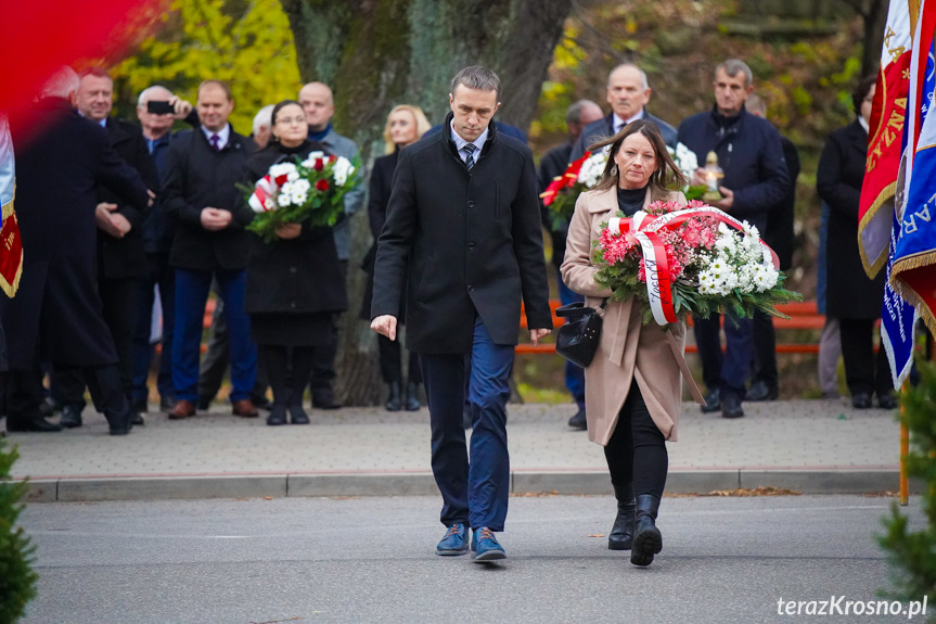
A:
{"label": "red and white ribbon on the bouquet carried by the beige-coated woman", "polygon": [[[640,243],[646,276],[646,296],[650,301],[653,319],[658,324],[677,322],[678,319],[672,305],[672,279],[669,262],[666,257],[666,246],[656,232],[663,228],[676,229],[687,219],[697,216],[713,217],[735,230],[744,230],[742,221],[711,206],[687,208],[659,216],[652,216],[643,211],[638,211],[631,218],[614,217],[607,222],[607,229],[612,232],[620,234],[633,232],[634,238]],[[764,240],[760,240],[760,244],[770,252],[773,267],[779,269],[780,259],[777,257],[777,253]]]}

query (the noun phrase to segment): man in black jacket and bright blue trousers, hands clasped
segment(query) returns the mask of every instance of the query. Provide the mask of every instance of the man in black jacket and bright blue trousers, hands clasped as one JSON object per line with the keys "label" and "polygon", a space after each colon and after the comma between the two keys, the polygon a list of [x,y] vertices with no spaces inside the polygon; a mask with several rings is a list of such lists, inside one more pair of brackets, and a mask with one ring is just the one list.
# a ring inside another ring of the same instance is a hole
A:
{"label": "man in black jacket and bright blue trousers, hands clasped", "polygon": [[236,184],[245,179],[253,141],[228,123],[234,100],[220,80],[198,86],[201,126],[176,139],[166,156],[166,212],[176,220],[169,263],[176,267],[176,333],[172,384],[176,407],[169,418],[194,416],[198,398],[202,319],[211,278],[218,282],[231,341],[231,404],[235,416],[253,418],[251,391],[257,374],[257,348],[244,313],[244,289],[253,219]]}

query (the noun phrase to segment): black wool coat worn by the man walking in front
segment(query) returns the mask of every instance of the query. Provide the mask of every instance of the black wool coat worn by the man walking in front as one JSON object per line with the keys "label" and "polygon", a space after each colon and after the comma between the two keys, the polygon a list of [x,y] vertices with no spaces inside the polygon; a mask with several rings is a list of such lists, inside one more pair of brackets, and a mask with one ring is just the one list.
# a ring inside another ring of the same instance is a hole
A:
{"label": "black wool coat worn by the man walking in front", "polygon": [[469,171],[451,119],[400,151],[377,242],[371,316],[397,315],[407,280],[416,353],[469,353],[475,314],[496,344],[514,345],[521,301],[528,327],[552,328],[533,153],[490,124]]}

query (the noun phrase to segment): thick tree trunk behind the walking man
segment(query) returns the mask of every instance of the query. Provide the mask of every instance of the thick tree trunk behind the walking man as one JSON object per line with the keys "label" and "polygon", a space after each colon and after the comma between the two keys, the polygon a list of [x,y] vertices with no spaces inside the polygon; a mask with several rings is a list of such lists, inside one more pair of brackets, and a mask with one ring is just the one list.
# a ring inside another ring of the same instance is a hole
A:
{"label": "thick tree trunk behind the walking man", "polygon": [[[295,35],[299,75],[335,94],[333,124],[361,149],[383,154],[384,124],[397,104],[420,106],[433,124],[448,112],[452,76],[480,64],[501,79],[498,118],[526,130],[552,63],[568,0],[281,0]],[[346,405],[382,395],[376,341],[358,318],[371,244],[364,215],[351,219],[350,310],[344,315],[336,392]]]}

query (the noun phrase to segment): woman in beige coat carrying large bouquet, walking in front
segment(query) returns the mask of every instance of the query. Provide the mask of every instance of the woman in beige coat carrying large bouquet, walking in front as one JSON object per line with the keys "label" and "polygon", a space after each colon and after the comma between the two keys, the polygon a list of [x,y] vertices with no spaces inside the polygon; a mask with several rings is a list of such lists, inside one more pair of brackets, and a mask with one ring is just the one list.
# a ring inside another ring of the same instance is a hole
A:
{"label": "woman in beige coat carrying large bouquet, walking in front", "polygon": [[[668,183],[685,181],[654,124],[628,124],[591,150],[605,145],[611,145],[607,165],[598,186],[578,198],[560,269],[568,288],[584,294],[592,307],[612,295],[594,283],[598,268],[591,263],[601,225],[618,211],[632,216],[657,200],[685,203],[682,193],[667,189]],[[649,565],[663,549],[654,521],[666,484],[666,441],[676,441],[682,394],[669,339],[664,328],[642,324],[643,311],[634,297],[608,301],[598,351],[585,370],[588,436],[604,446],[617,498],[608,548],[631,549],[636,565]],[[683,349],[685,326],[674,323],[669,330]]]}

